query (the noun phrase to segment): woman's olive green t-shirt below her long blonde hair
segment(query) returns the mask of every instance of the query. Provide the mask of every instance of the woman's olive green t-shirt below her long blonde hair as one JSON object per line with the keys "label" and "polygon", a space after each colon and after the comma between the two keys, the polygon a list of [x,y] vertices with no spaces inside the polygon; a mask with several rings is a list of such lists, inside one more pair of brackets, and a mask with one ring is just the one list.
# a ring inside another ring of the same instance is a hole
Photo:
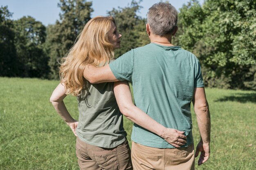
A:
{"label": "woman's olive green t-shirt below her long blonde hair", "polygon": [[87,98],[79,101],[76,134],[87,144],[114,148],[126,139],[123,116],[117,106],[113,82],[91,84]]}

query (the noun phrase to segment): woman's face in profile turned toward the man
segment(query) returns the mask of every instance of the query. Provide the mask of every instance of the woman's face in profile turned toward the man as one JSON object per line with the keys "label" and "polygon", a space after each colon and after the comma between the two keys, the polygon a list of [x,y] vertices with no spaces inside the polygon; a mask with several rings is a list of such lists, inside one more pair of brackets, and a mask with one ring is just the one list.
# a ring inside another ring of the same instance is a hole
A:
{"label": "woman's face in profile turned toward the man", "polygon": [[108,40],[113,45],[114,49],[120,48],[121,43],[121,34],[117,31],[117,27],[115,26],[114,22],[111,23],[111,28],[108,31]]}

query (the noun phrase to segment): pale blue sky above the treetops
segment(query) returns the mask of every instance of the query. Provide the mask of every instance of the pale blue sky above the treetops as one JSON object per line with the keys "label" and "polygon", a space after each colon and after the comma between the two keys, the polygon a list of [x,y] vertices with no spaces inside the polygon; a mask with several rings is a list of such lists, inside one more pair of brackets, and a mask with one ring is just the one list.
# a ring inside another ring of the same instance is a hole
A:
{"label": "pale blue sky above the treetops", "polygon": [[[92,1],[91,17],[98,15],[107,15],[107,11],[111,11],[113,8],[127,7],[132,0],[87,0]],[[202,4],[204,0],[199,0]],[[37,21],[42,22],[45,26],[48,24],[54,24],[56,20],[59,20],[59,13],[61,12],[58,7],[59,0],[0,0],[0,6],[8,6],[8,10],[13,13],[12,19],[18,20],[23,16],[31,16]],[[143,7],[140,12],[137,13],[142,18],[146,18],[148,8],[153,4],[160,2],[160,0],[143,0],[140,5]],[[163,0],[165,2],[165,0]],[[177,10],[186,4],[189,0],[169,0]]]}

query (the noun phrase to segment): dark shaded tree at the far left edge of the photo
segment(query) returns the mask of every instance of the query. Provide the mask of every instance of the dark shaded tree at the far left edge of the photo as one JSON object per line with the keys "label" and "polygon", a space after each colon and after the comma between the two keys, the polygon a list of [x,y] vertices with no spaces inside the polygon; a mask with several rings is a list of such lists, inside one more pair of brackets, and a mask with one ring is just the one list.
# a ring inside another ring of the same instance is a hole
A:
{"label": "dark shaded tree at the far left edge of the photo", "polygon": [[0,7],[0,76],[17,76],[18,61],[14,45],[12,13]]}

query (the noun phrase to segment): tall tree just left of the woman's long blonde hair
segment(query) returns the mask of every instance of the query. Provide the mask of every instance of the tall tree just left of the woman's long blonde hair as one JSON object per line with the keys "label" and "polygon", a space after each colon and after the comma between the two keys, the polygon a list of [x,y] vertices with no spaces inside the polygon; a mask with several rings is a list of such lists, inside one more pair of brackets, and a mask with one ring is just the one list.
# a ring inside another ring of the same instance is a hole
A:
{"label": "tall tree just left of the woman's long blonde hair", "polygon": [[86,0],[60,0],[60,20],[47,27],[45,51],[49,54],[50,78],[58,78],[58,62],[67,53],[91,19],[92,2]]}

